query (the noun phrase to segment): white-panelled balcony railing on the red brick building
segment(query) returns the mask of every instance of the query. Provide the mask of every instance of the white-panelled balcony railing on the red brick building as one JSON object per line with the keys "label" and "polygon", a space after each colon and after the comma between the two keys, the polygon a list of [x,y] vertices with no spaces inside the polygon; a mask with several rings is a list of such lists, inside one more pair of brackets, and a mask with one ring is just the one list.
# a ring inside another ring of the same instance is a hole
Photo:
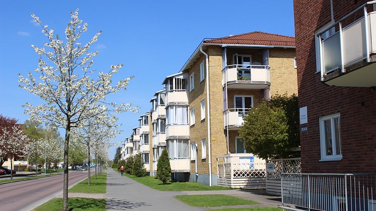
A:
{"label": "white-panelled balcony railing on the red brick building", "polygon": [[370,62],[370,54],[376,52],[376,12],[368,13],[367,6],[375,3],[366,3],[318,35],[322,80],[336,69],[344,73],[347,65],[364,58]]}

